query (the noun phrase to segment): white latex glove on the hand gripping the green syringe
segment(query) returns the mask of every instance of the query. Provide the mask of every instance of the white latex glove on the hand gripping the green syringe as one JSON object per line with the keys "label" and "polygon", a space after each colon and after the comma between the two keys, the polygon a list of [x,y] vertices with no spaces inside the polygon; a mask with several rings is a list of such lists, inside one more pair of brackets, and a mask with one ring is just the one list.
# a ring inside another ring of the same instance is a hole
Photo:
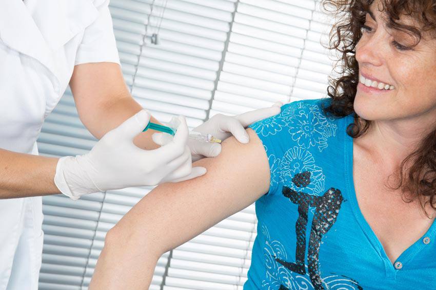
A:
{"label": "white latex glove on the hand gripping the green syringe", "polygon": [[54,176],[56,186],[75,200],[87,193],[154,186],[206,173],[204,167],[192,168],[191,152],[186,145],[189,131],[184,117],[179,117],[180,126],[165,146],[154,150],[135,146],[133,138],[149,120],[148,111],[141,110],[107,132],[88,153],[61,158]]}

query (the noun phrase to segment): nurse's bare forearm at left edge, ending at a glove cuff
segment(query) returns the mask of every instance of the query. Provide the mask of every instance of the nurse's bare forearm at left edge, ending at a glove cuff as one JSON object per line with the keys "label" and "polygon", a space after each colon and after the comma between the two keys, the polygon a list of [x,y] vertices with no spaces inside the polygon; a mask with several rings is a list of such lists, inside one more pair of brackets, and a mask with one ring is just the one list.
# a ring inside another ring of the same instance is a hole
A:
{"label": "nurse's bare forearm at left edge, ending at a glove cuff", "polygon": [[0,198],[57,194],[57,158],[0,149]]}

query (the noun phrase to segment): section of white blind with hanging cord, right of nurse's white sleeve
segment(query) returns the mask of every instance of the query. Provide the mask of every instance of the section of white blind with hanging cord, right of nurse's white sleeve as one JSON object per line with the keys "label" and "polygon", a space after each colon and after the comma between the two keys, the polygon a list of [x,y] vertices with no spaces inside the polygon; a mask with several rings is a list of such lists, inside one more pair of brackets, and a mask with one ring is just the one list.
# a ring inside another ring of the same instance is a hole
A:
{"label": "section of white blind with hanging cord, right of nurse's white sleeve", "polygon": [[[234,3],[156,0],[151,6],[152,3],[111,1],[126,81],[132,85],[138,64],[132,89],[138,102],[161,121],[183,114],[190,127],[200,125],[209,109]],[[146,43],[141,49],[146,29]],[[151,35],[157,31],[160,44],[156,46],[151,44]]]}

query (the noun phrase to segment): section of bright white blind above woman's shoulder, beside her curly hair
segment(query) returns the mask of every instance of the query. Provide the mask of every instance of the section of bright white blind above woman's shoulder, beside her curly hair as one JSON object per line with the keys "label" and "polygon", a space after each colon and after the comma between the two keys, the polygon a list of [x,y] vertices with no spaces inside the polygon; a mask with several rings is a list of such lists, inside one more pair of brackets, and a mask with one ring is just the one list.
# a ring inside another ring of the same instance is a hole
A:
{"label": "section of bright white blind above woman's shoulder, beside her curly hair", "polygon": [[326,96],[327,16],[314,0],[240,0],[210,116]]}

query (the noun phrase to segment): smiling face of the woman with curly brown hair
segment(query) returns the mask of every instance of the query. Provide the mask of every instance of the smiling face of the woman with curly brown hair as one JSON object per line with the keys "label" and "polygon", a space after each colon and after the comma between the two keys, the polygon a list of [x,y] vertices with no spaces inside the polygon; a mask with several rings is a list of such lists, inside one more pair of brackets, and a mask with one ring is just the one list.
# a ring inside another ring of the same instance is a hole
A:
{"label": "smiling face of the woman with curly brown hair", "polygon": [[[371,5],[356,46],[360,80],[354,110],[366,120],[434,121],[436,41],[423,33],[412,47],[412,36],[386,27],[378,5]],[[401,18],[400,23],[413,25],[413,19]]]}

